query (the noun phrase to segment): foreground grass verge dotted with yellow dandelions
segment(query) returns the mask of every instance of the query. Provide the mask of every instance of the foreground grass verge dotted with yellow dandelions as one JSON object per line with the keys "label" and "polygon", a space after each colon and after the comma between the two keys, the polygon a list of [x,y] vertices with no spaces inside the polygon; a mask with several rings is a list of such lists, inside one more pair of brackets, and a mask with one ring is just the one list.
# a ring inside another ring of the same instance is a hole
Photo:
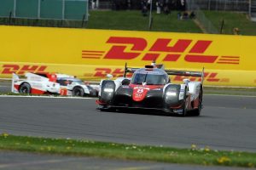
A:
{"label": "foreground grass verge dotted with yellow dandelions", "polygon": [[256,153],[219,151],[210,148],[190,149],[115,144],[74,139],[49,139],[14,136],[2,133],[0,150],[20,150],[69,156],[96,156],[137,161],[160,161],[180,164],[255,167]]}

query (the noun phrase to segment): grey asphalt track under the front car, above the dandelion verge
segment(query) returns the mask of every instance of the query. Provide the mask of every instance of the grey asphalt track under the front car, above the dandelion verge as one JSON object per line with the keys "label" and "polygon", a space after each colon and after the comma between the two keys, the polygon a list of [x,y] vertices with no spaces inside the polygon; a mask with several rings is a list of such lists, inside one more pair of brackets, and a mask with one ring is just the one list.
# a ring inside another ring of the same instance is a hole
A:
{"label": "grey asphalt track under the front car, above the dandelion verge", "polygon": [[188,117],[102,112],[95,100],[2,96],[0,129],[16,135],[256,151],[255,97],[205,95],[202,115]]}

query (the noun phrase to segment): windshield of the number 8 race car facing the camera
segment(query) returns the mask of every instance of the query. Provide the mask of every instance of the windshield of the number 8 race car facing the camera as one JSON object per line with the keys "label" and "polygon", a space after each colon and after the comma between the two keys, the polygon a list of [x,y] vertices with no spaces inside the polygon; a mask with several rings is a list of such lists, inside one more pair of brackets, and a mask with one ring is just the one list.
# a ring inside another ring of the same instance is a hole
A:
{"label": "windshield of the number 8 race car facing the camera", "polygon": [[166,84],[166,77],[165,75],[137,73],[131,78],[132,84],[143,84],[143,82],[146,82],[147,85],[164,85]]}

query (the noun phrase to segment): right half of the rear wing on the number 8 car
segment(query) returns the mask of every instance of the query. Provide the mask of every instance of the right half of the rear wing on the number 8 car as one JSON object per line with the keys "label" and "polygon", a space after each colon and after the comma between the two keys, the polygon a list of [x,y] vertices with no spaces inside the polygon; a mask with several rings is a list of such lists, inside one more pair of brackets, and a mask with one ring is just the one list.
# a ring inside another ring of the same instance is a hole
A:
{"label": "right half of the rear wing on the number 8 car", "polygon": [[201,77],[201,83],[204,82],[205,68],[202,71],[175,71],[175,70],[165,70],[168,75],[186,76],[186,77]]}

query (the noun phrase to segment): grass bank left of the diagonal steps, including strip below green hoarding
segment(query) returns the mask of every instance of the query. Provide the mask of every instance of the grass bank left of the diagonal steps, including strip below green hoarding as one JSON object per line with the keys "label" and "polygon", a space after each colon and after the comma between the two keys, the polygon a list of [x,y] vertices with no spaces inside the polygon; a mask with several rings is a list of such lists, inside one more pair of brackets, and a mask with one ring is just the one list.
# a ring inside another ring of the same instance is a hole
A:
{"label": "grass bank left of the diagonal steps, including strip below green hoarding", "polygon": [[[0,25],[18,26],[53,26],[53,27],[82,27],[81,21],[61,20],[27,20],[0,18]],[[112,11],[91,10],[89,21],[83,28],[148,31],[148,16],[143,17],[139,10]],[[153,12],[153,25],[151,31],[174,31],[174,32],[202,32],[193,20],[177,20],[177,11],[171,14],[155,14]]]}

